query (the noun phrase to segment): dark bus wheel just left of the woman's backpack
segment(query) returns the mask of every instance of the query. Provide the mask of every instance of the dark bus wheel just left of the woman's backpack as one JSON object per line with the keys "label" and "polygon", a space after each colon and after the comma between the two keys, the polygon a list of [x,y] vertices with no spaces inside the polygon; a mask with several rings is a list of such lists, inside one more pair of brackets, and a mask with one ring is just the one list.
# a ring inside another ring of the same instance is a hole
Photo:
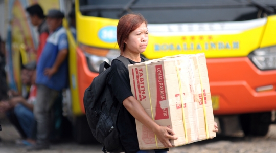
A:
{"label": "dark bus wheel just left of the woman's backpack", "polygon": [[79,144],[96,143],[97,140],[93,137],[88,125],[86,116],[78,116],[74,123],[74,136]]}

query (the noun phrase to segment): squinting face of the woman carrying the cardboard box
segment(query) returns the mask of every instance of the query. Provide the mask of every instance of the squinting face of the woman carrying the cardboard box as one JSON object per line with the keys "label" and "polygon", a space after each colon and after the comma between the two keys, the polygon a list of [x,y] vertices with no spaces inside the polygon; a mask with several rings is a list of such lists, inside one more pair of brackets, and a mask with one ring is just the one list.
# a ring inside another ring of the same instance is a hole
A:
{"label": "squinting face of the woman carrying the cardboard box", "polygon": [[124,52],[143,53],[148,45],[148,28],[145,23],[141,24],[137,29],[130,32],[128,38],[125,39]]}

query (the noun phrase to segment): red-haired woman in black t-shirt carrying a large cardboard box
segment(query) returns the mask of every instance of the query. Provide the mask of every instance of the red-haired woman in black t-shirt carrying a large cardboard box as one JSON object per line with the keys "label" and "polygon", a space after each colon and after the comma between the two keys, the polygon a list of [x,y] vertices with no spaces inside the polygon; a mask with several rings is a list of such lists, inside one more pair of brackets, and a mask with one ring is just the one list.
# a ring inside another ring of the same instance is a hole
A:
{"label": "red-haired woman in black t-shirt carrying a large cardboard box", "polygon": [[[121,56],[126,57],[131,64],[144,62],[140,57],[148,45],[147,21],[141,14],[128,14],[123,16],[117,26],[117,42]],[[167,152],[168,149],[140,150],[135,119],[151,129],[158,140],[166,148],[173,147],[170,139],[176,140],[172,129],[156,124],[145,112],[144,108],[137,101],[131,92],[128,68],[119,61],[113,60],[108,83],[111,86],[111,93],[121,104],[118,114],[117,126],[120,133],[120,140],[125,152]],[[116,101],[114,101],[116,102]],[[218,132],[215,123],[213,132]]]}

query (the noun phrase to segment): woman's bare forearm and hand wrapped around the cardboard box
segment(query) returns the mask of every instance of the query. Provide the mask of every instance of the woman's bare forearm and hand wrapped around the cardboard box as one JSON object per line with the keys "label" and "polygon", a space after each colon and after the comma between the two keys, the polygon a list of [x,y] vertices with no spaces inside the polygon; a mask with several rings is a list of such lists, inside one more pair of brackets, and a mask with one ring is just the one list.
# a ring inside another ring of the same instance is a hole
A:
{"label": "woman's bare forearm and hand wrapped around the cardboard box", "polygon": [[166,148],[173,147],[170,143],[170,139],[177,139],[177,137],[173,136],[175,135],[173,130],[156,124],[146,113],[139,101],[137,101],[133,96],[130,96],[123,101],[123,105],[135,119],[151,129]]}

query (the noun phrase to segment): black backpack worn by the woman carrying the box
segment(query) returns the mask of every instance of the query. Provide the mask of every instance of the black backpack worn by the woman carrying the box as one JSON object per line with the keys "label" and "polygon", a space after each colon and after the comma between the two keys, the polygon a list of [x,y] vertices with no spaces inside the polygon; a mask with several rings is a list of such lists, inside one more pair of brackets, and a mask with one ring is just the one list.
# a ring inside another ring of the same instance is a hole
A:
{"label": "black backpack worn by the woman carrying the box", "polygon": [[[116,60],[124,63],[126,68],[130,64],[123,56],[117,57]],[[102,151],[117,153],[124,152],[116,125],[121,105],[113,102],[114,99],[107,85],[110,67],[107,62],[100,65],[100,74],[85,90],[83,103],[89,127],[95,139],[103,145]]]}

